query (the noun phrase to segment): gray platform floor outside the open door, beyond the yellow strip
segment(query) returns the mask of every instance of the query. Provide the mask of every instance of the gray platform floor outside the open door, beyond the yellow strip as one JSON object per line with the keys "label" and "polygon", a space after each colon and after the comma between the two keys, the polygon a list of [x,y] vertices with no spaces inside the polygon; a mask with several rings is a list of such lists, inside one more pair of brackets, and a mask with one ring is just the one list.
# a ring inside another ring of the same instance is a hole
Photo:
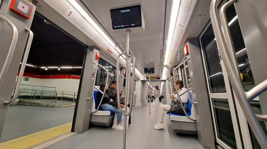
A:
{"label": "gray platform floor outside the open door, beyond the yellow strip", "polygon": [[71,122],[74,107],[12,105],[7,112],[0,142]]}

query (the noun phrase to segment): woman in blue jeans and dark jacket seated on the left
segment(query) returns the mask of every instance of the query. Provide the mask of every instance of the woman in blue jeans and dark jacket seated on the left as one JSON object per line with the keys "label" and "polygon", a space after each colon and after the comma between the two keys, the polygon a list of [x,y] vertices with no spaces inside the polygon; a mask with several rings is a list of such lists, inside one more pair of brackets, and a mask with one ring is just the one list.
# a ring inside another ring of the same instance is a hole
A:
{"label": "woman in blue jeans and dark jacket seated on the left", "polygon": [[[100,84],[100,90],[104,91],[105,88],[106,88],[106,90],[108,90],[108,86],[105,83],[101,83]],[[98,103],[100,103],[101,98],[102,98],[102,93],[99,91],[97,94]],[[112,111],[112,112],[117,113],[117,126],[115,129],[123,130],[123,126],[120,125],[120,121],[121,121],[121,117],[122,117],[122,111],[120,111],[118,108],[115,108],[111,104],[108,104],[109,102],[113,102],[113,100],[109,98],[108,93],[106,91],[104,94],[102,103],[101,103],[101,108],[104,111]]]}

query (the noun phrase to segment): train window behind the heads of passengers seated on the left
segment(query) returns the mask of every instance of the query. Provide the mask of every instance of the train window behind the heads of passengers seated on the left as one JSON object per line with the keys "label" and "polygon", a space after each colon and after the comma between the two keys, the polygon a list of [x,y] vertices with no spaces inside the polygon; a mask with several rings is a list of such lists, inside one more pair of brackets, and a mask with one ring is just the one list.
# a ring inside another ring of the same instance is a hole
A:
{"label": "train window behind the heads of passengers seated on the left", "polygon": [[[99,64],[104,66],[108,70],[108,72],[109,72],[109,78],[108,78],[109,84],[111,83],[111,81],[116,80],[116,67],[112,66],[110,63],[108,63],[107,61],[105,61],[101,58],[99,60]],[[99,70],[97,72],[95,85],[100,86],[100,84],[102,82],[105,82],[106,77],[107,77],[106,72],[104,70],[102,70],[101,68],[99,68]]]}

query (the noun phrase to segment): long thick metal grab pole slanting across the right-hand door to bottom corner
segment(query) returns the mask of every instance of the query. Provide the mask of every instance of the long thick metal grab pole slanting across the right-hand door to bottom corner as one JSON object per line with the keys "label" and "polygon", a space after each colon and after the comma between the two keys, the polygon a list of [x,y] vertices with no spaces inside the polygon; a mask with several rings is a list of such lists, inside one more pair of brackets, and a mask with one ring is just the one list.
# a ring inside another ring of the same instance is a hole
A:
{"label": "long thick metal grab pole slanting across the right-hand door to bottom corner", "polygon": [[[234,0],[228,1],[226,4],[233,2]],[[221,24],[219,22],[218,10],[217,6],[219,5],[220,0],[213,0],[211,2],[210,7],[210,16],[211,22],[214,29],[214,34],[217,40],[218,49],[220,50],[223,63],[225,65],[225,69],[227,74],[229,75],[229,80],[234,89],[237,100],[242,108],[242,111],[250,125],[252,132],[254,133],[257,141],[259,142],[262,149],[267,149],[267,136],[263,131],[260,123],[255,117],[254,112],[251,109],[250,103],[248,102],[247,94],[244,92],[242,85],[240,83],[239,76],[236,75],[236,70],[234,68],[233,61],[231,60],[231,56],[229,51],[227,50],[227,46],[224,41],[224,37],[221,30]],[[257,88],[254,87],[254,88]],[[260,90],[259,90],[260,91]],[[258,91],[257,91],[258,92]],[[262,92],[258,92],[259,94]]]}

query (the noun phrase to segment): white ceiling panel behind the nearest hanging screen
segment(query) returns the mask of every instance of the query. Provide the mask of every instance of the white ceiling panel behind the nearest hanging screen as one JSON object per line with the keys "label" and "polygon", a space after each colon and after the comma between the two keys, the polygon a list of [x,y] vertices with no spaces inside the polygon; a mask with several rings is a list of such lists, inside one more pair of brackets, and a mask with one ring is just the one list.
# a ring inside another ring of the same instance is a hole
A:
{"label": "white ceiling panel behind the nearest hanging screen", "polygon": [[166,0],[82,0],[107,30],[117,44],[125,51],[126,33],[112,30],[110,9],[141,4],[144,12],[144,32],[130,34],[130,49],[134,52],[137,67],[143,72],[145,62],[154,62],[155,74],[159,75],[160,48],[163,46]]}

